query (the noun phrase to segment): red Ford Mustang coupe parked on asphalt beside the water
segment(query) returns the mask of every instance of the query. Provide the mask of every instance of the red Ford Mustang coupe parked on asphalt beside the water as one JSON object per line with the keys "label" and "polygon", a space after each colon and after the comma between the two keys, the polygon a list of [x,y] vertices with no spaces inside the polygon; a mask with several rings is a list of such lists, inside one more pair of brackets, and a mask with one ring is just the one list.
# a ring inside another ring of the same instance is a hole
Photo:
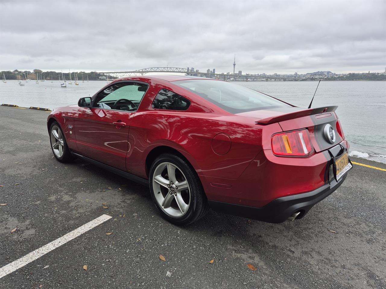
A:
{"label": "red Ford Mustang coupe parked on asphalt beside the water", "polygon": [[149,186],[170,222],[211,207],[280,223],[303,217],[352,168],[336,108],[215,79],[125,77],[54,109],[47,128],[58,161],[81,158]]}

